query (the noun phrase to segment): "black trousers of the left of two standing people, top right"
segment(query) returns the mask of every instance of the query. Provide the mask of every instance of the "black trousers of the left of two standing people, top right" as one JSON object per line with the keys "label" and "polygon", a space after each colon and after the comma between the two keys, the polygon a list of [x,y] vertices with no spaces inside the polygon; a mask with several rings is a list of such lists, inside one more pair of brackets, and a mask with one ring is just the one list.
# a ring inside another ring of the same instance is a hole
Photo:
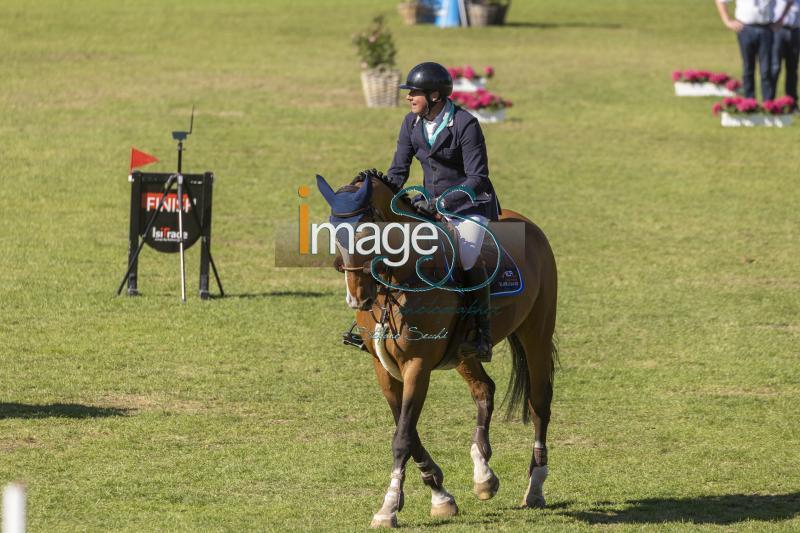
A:
{"label": "black trousers of the left of two standing people, top right", "polygon": [[742,84],[747,98],[756,97],[756,60],[761,77],[761,98],[775,98],[775,82],[772,78],[772,43],[774,32],[769,26],[747,24],[737,34],[742,53]]}

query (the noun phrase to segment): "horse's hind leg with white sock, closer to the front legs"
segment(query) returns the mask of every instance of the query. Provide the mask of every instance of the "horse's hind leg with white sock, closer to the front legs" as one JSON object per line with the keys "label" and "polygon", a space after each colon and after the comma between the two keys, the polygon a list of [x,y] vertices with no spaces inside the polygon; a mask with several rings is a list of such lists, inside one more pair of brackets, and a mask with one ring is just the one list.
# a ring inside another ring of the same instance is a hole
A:
{"label": "horse's hind leg with white sock, closer to the front legs", "polygon": [[497,489],[500,488],[500,480],[489,468],[489,459],[492,458],[492,446],[489,444],[489,424],[492,421],[492,411],[494,410],[494,381],[475,358],[463,360],[456,370],[467,382],[472,399],[478,408],[478,420],[470,448],[474,483],[472,491],[479,500],[488,500],[497,494]]}

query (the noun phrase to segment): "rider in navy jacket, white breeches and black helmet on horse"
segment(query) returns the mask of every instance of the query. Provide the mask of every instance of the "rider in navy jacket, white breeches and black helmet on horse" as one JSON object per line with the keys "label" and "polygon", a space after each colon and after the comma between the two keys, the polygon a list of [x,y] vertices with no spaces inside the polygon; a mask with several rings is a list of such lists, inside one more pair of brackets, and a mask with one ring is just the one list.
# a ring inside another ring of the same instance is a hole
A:
{"label": "rider in navy jacket, white breeches and black helmet on horse", "polygon": [[[400,88],[409,91],[406,100],[411,112],[400,126],[397,150],[387,171],[389,180],[402,188],[416,156],[424,172],[423,185],[435,199],[455,185],[463,185],[475,193],[473,202],[463,192],[452,192],[444,198],[443,204],[448,211],[468,219],[445,217],[458,232],[458,256],[464,284],[478,286],[488,278],[486,265],[479,260],[485,230],[470,220],[485,225],[490,220],[496,221],[500,214],[500,205],[489,181],[483,131],[474,116],[448,98],[453,92],[453,79],[442,65],[420,63],[411,69]],[[420,211],[435,213],[435,208],[422,195],[413,203]],[[471,295],[479,309],[475,315],[477,335],[474,340],[467,341],[467,350],[474,351],[481,361],[491,361],[489,285],[465,294]]]}

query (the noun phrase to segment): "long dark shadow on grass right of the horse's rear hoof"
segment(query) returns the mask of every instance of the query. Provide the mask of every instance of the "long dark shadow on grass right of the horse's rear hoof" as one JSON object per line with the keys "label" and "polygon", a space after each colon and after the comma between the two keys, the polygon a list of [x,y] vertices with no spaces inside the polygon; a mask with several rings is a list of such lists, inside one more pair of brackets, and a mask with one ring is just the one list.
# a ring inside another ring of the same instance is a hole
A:
{"label": "long dark shadow on grass right of the horse's rear hoof", "polygon": [[567,511],[587,524],[660,524],[692,522],[726,525],[745,520],[788,520],[800,515],[800,492],[789,494],[725,494],[699,498],[648,498],[609,503],[590,511]]}

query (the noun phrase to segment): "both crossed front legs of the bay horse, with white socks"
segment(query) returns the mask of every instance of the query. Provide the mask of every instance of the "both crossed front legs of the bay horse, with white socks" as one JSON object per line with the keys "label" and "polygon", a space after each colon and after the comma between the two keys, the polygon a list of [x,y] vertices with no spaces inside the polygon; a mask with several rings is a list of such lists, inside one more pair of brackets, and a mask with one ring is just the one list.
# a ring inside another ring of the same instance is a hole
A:
{"label": "both crossed front legs of the bay horse, with white socks", "polygon": [[[376,363],[378,380],[381,382],[381,388],[389,401],[390,407],[392,407],[397,427],[392,440],[394,462],[392,464],[389,488],[383,499],[383,505],[372,519],[371,526],[397,526],[397,513],[403,508],[405,466],[412,455],[422,471],[423,482],[431,487],[433,503],[431,514],[434,516],[452,516],[455,514],[455,500],[444,490],[441,469],[433,462],[425,448],[422,447],[417,434],[417,421],[428,392],[430,369],[427,368],[422,359],[409,361],[403,367],[402,385],[399,383],[396,385],[391,382],[386,383],[385,379],[381,379],[380,370],[379,363]],[[398,386],[402,390],[399,409],[397,408],[395,394],[398,392]],[[395,393],[393,393],[393,390]],[[441,512],[435,513],[436,508],[441,508]],[[446,510],[450,512],[445,514]]]}

